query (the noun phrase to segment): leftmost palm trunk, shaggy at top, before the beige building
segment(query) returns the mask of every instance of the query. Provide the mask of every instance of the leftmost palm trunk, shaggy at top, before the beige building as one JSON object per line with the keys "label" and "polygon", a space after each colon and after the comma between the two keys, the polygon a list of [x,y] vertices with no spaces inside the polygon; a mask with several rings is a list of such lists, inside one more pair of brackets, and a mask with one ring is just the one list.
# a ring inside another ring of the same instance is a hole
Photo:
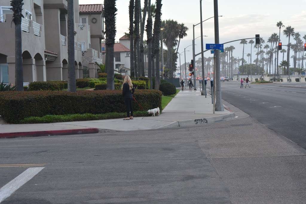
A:
{"label": "leftmost palm trunk, shaggy at top, before the beige building", "polygon": [[[12,0],[13,22],[15,24],[15,86],[16,91],[23,91],[23,68],[22,68],[22,46],[21,46],[21,13],[23,0]],[[74,64],[74,63],[73,63]]]}

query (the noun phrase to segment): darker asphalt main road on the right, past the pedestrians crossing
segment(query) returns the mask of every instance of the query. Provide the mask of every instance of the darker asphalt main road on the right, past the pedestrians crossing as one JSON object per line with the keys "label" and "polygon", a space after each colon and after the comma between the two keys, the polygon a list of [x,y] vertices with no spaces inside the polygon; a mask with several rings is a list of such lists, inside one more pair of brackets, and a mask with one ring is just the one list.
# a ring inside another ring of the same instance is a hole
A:
{"label": "darker asphalt main road on the right, past the pedestrians crossing", "polygon": [[271,130],[306,148],[306,87],[280,87],[306,84],[250,85],[251,88],[240,88],[237,82],[222,83],[222,98]]}

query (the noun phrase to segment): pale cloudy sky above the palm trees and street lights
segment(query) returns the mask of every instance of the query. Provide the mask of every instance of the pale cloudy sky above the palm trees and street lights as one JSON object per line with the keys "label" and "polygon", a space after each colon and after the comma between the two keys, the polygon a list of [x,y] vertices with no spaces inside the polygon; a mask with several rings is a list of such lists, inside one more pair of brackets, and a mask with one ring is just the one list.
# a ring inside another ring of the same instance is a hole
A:
{"label": "pale cloudy sky above the palm trees and street lights", "polygon": [[[103,3],[103,0],[79,0],[80,4]],[[151,2],[155,2],[151,0]],[[163,0],[162,19],[174,19],[179,23],[184,23],[188,28],[188,36],[181,40],[179,52],[184,51],[184,47],[192,44],[192,25],[200,22],[200,1],[199,0]],[[255,37],[260,34],[266,41],[274,32],[278,33],[276,27],[278,21],[282,21],[285,26],[292,26],[296,32],[302,36],[306,35],[306,0],[219,0],[219,29],[220,42],[234,39]],[[124,32],[128,32],[129,27],[129,0],[117,0],[117,36],[118,40]],[[143,0],[142,0],[143,5]],[[214,15],[213,0],[203,0],[203,20]],[[205,43],[214,43],[214,20],[208,20],[203,24],[203,34]],[[195,28],[195,36],[200,36],[200,25]],[[288,43],[288,39],[281,34],[281,40]],[[200,38],[196,39],[196,53],[201,51]],[[233,45],[236,50],[233,55],[242,57],[242,45]],[[192,51],[192,47],[187,50]],[[245,48],[245,53],[250,53],[250,45]],[[253,53],[254,54],[254,53]],[[205,53],[209,57],[208,52]],[[182,58],[181,58],[182,59]],[[192,59],[192,52],[186,52],[186,61]],[[246,54],[244,59],[248,60]],[[254,59],[254,58],[253,58]],[[183,59],[182,59],[183,61]],[[183,62],[182,62],[183,63]]]}

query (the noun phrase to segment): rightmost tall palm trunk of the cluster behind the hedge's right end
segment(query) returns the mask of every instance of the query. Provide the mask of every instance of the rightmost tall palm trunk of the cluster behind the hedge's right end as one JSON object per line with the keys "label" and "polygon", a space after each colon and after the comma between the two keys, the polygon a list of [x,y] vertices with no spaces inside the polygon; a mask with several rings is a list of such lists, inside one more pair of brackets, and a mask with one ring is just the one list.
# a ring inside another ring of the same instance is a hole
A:
{"label": "rightmost tall palm trunk of the cluster behind the hedge's right end", "polygon": [[[155,55],[155,89],[159,90],[160,84],[160,69],[159,69],[159,39],[160,28],[162,25],[162,0],[156,0],[155,20],[153,29],[153,54]],[[152,81],[151,81],[152,85]],[[153,87],[153,85],[151,86]]]}

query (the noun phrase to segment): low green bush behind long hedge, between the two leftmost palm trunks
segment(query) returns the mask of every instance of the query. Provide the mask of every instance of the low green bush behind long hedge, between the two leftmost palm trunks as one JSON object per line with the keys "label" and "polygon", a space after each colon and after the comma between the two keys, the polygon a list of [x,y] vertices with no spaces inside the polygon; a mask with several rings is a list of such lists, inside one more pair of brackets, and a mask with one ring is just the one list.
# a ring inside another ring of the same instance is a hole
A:
{"label": "low green bush behind long hedge, between the two leftmost palm trunks", "polygon": [[62,91],[68,88],[66,81],[35,81],[29,85],[29,91]]}

